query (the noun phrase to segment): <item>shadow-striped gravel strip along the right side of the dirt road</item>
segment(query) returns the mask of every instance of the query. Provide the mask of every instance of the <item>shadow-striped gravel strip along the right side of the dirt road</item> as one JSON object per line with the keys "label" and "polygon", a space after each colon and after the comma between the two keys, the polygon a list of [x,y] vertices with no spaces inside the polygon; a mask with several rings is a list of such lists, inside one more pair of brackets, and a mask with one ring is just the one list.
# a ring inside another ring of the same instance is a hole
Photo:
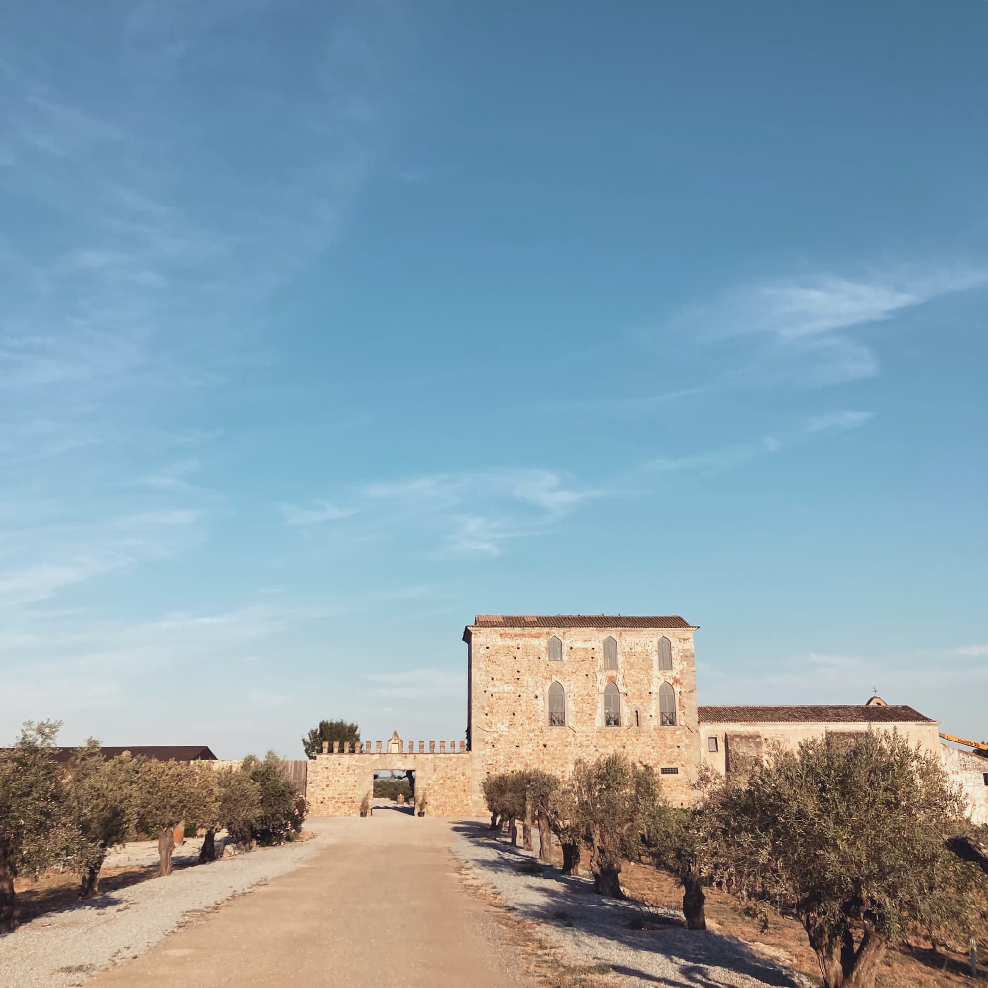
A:
{"label": "shadow-striped gravel strip along the right side of the dirt road", "polygon": [[[533,840],[537,848],[535,834]],[[539,934],[560,947],[566,963],[606,964],[623,984],[649,988],[812,986],[801,972],[736,937],[681,926],[633,930],[630,924],[636,919],[652,925],[682,923],[683,914],[604,898],[594,892],[591,879],[563,875],[557,867],[541,875],[520,871],[535,856],[511,847],[504,837],[491,837],[482,826],[457,828],[452,848],[468,880],[480,882],[514,907],[516,915],[537,923]]]}

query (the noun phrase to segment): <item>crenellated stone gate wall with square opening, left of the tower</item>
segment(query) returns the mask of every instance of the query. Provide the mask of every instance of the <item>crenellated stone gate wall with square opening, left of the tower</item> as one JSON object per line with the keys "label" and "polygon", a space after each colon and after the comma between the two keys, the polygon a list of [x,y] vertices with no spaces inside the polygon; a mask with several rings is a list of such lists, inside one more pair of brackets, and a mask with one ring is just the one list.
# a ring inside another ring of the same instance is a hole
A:
{"label": "crenellated stone gate wall with square opening, left of the tower", "polygon": [[[366,751],[363,750],[366,747]],[[416,797],[425,793],[428,816],[459,817],[470,814],[470,756],[462,741],[453,753],[453,742],[419,742],[417,747],[362,745],[360,752],[329,753],[309,760],[307,796],[312,816],[354,816],[366,793],[373,795],[375,772],[415,772]],[[429,748],[430,751],[425,749]],[[440,749],[440,750],[437,750]],[[374,750],[376,749],[376,750]],[[422,749],[422,750],[418,750]]]}

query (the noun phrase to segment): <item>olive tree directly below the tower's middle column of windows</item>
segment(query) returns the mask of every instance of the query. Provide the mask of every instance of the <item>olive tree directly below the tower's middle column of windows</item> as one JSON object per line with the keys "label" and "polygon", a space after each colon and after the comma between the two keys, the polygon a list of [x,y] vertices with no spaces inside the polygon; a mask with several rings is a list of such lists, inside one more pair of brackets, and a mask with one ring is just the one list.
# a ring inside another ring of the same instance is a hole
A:
{"label": "olive tree directly below the tower's middle column of windows", "polygon": [[658,824],[662,800],[655,771],[618,753],[577,762],[571,786],[574,822],[590,848],[594,887],[622,899],[621,860],[640,857],[642,842]]}

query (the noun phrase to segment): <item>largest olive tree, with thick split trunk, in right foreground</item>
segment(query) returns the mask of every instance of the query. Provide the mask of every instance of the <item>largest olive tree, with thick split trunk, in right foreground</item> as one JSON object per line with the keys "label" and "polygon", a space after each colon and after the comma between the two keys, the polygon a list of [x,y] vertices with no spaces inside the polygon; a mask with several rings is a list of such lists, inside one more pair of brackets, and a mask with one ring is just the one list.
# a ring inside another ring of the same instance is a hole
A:
{"label": "largest olive tree, with thick split trunk, in right foreground", "polygon": [[721,877],[795,913],[825,988],[871,988],[890,942],[970,922],[980,875],[944,843],[961,795],[895,732],[774,751],[709,812]]}

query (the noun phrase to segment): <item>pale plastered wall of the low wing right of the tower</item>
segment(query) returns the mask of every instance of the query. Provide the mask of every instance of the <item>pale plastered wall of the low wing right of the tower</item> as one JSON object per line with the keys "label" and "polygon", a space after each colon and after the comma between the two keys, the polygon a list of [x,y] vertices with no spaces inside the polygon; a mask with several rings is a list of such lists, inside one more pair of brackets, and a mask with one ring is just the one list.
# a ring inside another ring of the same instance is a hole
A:
{"label": "pale plastered wall of the low wing right of the tower", "polygon": [[[924,750],[932,754],[940,751],[940,736],[937,733],[938,723],[930,721],[905,721],[902,723],[878,722],[868,723],[824,723],[824,722],[799,722],[799,723],[771,723],[750,721],[747,723],[709,723],[700,724],[700,752],[703,761],[717,772],[725,772],[731,756],[732,750],[747,751],[749,747],[755,750],[757,745],[754,742],[761,739],[761,752],[767,753],[774,744],[779,744],[783,749],[795,751],[801,742],[810,738],[823,737],[825,734],[853,735],[866,734],[869,727],[876,730],[892,730],[894,727],[910,745],[921,744]],[[717,739],[717,750],[709,750],[710,738]],[[745,744],[746,741],[751,745]]]}

